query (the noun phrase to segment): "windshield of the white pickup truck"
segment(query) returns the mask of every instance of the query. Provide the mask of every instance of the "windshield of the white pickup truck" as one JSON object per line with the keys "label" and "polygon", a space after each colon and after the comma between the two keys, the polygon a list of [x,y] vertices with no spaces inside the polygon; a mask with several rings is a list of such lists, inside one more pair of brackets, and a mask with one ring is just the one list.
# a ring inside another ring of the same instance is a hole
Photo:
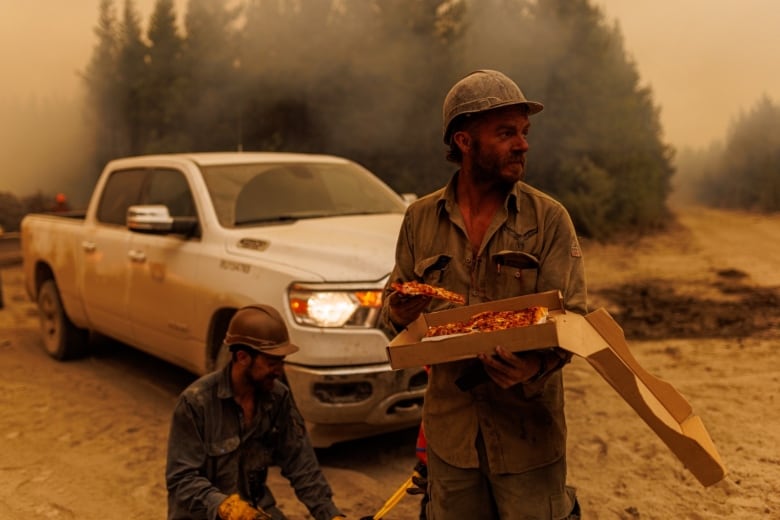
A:
{"label": "windshield of the white pickup truck", "polygon": [[220,224],[242,225],[356,214],[403,213],[402,198],[355,163],[201,166]]}

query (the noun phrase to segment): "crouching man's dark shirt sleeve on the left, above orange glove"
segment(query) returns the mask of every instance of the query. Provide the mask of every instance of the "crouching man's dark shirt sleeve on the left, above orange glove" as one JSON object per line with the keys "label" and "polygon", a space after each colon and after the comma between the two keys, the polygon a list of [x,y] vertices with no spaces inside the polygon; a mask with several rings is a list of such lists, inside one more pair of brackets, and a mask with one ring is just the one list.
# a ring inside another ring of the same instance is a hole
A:
{"label": "crouching man's dark shirt sleeve on the left, above orange glove", "polygon": [[176,404],[168,436],[165,480],[169,509],[207,511],[216,520],[217,510],[227,495],[202,474],[207,453],[198,424],[198,414],[185,397]]}

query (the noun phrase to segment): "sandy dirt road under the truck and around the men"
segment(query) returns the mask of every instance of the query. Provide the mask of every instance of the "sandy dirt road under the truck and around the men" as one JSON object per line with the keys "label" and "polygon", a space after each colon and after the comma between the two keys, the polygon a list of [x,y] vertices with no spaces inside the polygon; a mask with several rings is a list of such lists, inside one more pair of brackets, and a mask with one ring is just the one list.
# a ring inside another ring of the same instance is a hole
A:
{"label": "sandy dirt road under the truck and around the men", "polygon": [[[688,210],[659,236],[583,249],[591,306],[619,317],[640,364],[689,400],[729,470],[702,487],[575,359],[565,369],[569,473],[585,518],[780,517],[780,216]],[[193,376],[108,343],[78,362],[49,359],[21,271],[0,275],[0,518],[164,518],[169,416]],[[740,308],[749,312],[729,322]],[[406,479],[415,435],[318,452],[349,518],[375,512]],[[278,474],[271,482],[291,520],[308,518]],[[416,512],[407,497],[386,519]]]}

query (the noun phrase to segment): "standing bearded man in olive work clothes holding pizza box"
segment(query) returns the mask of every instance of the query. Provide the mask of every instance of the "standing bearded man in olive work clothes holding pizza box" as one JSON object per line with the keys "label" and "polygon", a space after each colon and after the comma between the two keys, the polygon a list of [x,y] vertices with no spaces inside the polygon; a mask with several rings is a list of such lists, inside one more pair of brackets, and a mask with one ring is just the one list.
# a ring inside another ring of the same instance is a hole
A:
{"label": "standing bearded man in olive work clothes holding pizza box", "polygon": [[[568,212],[522,182],[529,116],[542,108],[494,70],[452,87],[443,133],[447,159],[459,169],[407,209],[390,281],[441,286],[468,304],[560,290],[567,309],[587,311]],[[381,323],[391,337],[421,312],[449,305],[387,293]],[[423,413],[429,520],[579,518],[566,485],[561,368],[570,359],[560,348],[515,356],[498,346],[476,367],[475,360],[431,367]],[[486,382],[459,389],[456,381],[475,368]]]}

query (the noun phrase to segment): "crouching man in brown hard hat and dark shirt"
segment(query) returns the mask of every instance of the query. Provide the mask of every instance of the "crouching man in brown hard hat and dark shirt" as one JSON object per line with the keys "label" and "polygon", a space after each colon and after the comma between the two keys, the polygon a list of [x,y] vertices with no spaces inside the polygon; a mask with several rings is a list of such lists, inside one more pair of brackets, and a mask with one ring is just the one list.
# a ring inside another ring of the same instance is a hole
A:
{"label": "crouching man in brown hard hat and dark shirt", "polygon": [[[290,343],[272,307],[249,305],[228,325],[232,357],[182,392],[168,440],[168,520],[284,520],[266,486],[281,467],[315,520],[344,518],[303,419],[278,381]],[[223,347],[223,348],[224,348]]]}

